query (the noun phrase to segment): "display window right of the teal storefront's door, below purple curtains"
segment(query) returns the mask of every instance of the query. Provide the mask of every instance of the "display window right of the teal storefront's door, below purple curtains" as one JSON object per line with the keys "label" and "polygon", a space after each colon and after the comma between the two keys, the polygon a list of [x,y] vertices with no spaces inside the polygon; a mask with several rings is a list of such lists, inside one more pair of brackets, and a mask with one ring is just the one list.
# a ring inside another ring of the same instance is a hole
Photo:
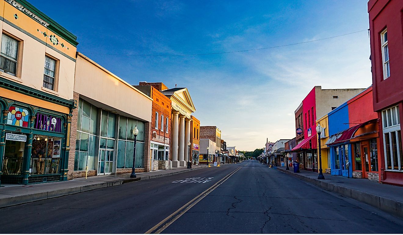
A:
{"label": "display window right of the teal storefront's door, below purple curtains", "polygon": [[60,173],[61,138],[35,135],[32,141],[29,175]]}

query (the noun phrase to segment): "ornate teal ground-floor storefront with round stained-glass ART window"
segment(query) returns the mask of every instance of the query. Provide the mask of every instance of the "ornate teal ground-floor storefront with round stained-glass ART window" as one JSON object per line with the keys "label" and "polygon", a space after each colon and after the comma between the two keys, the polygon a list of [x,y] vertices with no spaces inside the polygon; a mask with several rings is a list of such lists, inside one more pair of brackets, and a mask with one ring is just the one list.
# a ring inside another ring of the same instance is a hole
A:
{"label": "ornate teal ground-floor storefront with round stained-glass ART window", "polygon": [[[52,99],[33,89],[29,92],[35,99]],[[73,101],[59,100],[70,110],[74,108]],[[4,97],[0,97],[0,108],[0,183],[27,185],[67,180],[70,114]]]}

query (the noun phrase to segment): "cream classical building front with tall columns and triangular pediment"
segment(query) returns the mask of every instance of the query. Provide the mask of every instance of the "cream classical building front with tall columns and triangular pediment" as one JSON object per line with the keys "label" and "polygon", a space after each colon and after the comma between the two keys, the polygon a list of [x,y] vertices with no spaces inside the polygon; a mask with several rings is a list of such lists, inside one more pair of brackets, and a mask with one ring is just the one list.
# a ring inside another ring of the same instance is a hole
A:
{"label": "cream classical building front with tall columns and triangular pediment", "polygon": [[172,102],[172,166],[187,166],[190,141],[191,114],[196,111],[187,88],[172,88],[161,91]]}

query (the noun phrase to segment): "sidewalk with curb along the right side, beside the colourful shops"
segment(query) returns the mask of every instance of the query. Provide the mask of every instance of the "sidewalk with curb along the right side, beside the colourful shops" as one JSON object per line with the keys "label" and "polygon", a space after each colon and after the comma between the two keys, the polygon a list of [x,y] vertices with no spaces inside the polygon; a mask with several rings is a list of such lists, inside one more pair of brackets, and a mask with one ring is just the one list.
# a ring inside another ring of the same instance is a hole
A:
{"label": "sidewalk with curb along the right side, beside the colourful shops", "polygon": [[285,166],[277,166],[277,170],[293,175],[322,189],[369,204],[379,210],[403,217],[403,187],[381,184],[368,179],[353,179],[324,173],[324,180],[318,179],[318,173],[300,170],[294,173],[293,168],[287,171]]}

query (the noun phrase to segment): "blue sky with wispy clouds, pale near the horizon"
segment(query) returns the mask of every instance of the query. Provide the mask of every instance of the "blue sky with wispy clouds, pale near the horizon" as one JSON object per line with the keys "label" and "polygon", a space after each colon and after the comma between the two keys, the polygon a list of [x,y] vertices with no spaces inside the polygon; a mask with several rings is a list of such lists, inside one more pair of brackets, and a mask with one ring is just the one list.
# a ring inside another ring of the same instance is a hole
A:
{"label": "blue sky with wispy clouds, pale near the horizon", "polygon": [[[125,81],[187,87],[193,115],[237,150],[295,137],[294,112],[316,85],[372,83],[367,0],[29,2]],[[258,48],[269,49],[177,56]]]}

